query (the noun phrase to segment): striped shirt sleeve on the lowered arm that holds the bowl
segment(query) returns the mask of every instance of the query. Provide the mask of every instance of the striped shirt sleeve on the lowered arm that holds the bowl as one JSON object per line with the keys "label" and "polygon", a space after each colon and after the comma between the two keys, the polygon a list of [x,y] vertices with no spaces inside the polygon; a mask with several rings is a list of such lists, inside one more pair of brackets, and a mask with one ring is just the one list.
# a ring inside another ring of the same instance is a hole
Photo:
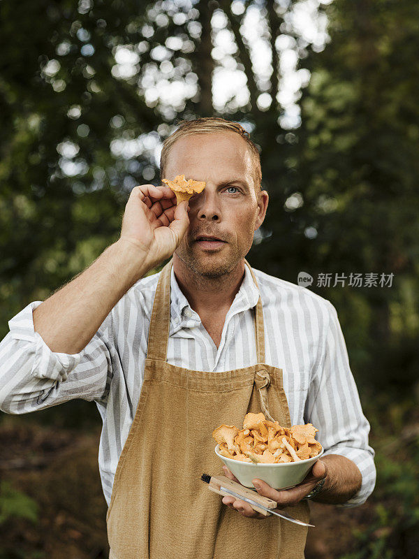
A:
{"label": "striped shirt sleeve on the lowered arm that holds the bowl", "polygon": [[369,422],[362,412],[358,389],[348,361],[348,352],[335,307],[326,302],[329,325],[323,355],[309,389],[304,420],[318,428],[324,456],[346,456],[362,474],[360,491],[337,507],[358,507],[374,490],[374,449],[368,444]]}

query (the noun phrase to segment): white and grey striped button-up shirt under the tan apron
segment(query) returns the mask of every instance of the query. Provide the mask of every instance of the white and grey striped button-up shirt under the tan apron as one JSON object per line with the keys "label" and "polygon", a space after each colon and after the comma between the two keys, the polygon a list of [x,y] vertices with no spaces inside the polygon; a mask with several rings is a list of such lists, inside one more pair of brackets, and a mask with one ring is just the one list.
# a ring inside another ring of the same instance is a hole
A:
{"label": "white and grey striped button-up shirt under the tan apron", "polygon": [[[253,271],[263,305],[265,362],[283,370],[291,424],[313,423],[325,454],[353,460],[362,474],[362,487],[338,506],[362,504],[375,485],[374,450],[368,445],[369,423],[362,413],[335,307],[309,289]],[[73,398],[96,402],[103,421],[98,463],[108,504],[140,397],[158,279],[159,274],[154,274],[135,283],[78,354],[50,351],[34,331],[32,310],[42,301],[29,303],[10,320],[10,332],[0,343],[3,412],[35,412]],[[256,364],[252,309],[258,296],[245,266],[217,349],[179,289],[172,268],[168,363],[202,371]]]}

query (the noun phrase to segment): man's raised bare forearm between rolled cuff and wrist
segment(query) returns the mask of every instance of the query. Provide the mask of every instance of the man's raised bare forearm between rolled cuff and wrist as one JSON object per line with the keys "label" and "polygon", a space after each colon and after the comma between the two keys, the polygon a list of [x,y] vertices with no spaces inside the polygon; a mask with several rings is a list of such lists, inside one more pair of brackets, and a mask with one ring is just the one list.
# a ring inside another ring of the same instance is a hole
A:
{"label": "man's raised bare forearm between rolled cuff and wrist", "polygon": [[147,266],[138,247],[119,239],[34,310],[35,331],[52,351],[78,353]]}

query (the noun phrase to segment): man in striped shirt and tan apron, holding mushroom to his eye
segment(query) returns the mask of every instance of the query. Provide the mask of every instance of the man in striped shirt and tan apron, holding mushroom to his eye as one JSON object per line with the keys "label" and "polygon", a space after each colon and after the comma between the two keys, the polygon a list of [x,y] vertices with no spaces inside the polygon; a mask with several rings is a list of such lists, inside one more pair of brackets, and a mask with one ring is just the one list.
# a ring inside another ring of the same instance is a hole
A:
{"label": "man in striped shirt and tan apron, holding mushroom to his eye", "polygon": [[200,475],[221,473],[212,430],[266,405],[281,425],[313,423],[325,454],[295,488],[255,479],[261,495],[303,521],[307,495],[365,502],[374,451],[337,314],[245,263],[268,194],[240,124],[182,122],[161,155],[162,177],[181,174],[206,182],[189,205],[168,187],[135,187],[119,240],[10,320],[0,406],[96,402],[110,558],[301,558],[307,528],[221,500]]}

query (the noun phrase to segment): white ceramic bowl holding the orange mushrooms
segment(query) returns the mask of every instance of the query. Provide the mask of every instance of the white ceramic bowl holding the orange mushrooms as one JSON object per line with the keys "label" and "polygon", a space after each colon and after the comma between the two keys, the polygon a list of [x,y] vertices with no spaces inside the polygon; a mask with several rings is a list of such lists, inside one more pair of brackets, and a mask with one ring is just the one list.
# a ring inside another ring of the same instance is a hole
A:
{"label": "white ceramic bowl holding the orange mushrooms", "polygon": [[219,444],[215,447],[216,456],[218,456],[224,464],[228,467],[228,470],[237,477],[242,485],[254,489],[251,480],[262,479],[266,481],[268,485],[274,489],[289,489],[291,487],[300,484],[304,477],[307,476],[313,464],[317,462],[318,458],[321,458],[324,453],[324,449],[314,456],[313,458],[307,458],[307,460],[301,460],[300,462],[286,462],[284,464],[255,464],[253,462],[241,462],[240,460],[234,460],[233,458],[226,458],[226,456],[221,456],[219,453]]}

